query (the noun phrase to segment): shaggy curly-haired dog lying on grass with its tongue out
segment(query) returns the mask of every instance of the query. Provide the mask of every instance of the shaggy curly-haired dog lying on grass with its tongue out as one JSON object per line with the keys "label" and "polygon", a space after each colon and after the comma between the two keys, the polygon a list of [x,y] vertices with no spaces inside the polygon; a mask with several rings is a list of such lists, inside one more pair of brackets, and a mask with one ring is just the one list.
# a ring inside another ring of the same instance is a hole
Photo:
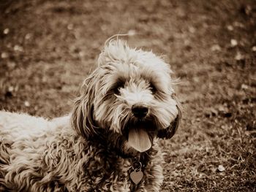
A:
{"label": "shaggy curly-haired dog lying on grass with its tongue out", "polygon": [[0,112],[0,191],[159,191],[181,111],[170,66],[110,38],[67,117]]}

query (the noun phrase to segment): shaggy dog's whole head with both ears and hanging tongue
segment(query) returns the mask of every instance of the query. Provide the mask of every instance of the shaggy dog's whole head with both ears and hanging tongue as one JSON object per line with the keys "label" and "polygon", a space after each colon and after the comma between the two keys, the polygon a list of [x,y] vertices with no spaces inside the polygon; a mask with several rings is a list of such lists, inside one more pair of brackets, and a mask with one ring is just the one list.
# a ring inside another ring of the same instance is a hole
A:
{"label": "shaggy dog's whole head with both ears and hanging tongue", "polygon": [[172,137],[181,111],[170,66],[117,39],[108,42],[98,62],[75,101],[72,124],[77,131],[86,139],[104,133],[122,153],[142,153],[154,137]]}

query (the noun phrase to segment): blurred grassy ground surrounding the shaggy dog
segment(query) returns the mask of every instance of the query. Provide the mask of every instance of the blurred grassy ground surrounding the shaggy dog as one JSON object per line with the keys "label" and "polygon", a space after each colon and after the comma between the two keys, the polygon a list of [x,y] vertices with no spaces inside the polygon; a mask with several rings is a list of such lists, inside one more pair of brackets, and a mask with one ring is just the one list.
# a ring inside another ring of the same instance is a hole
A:
{"label": "blurred grassy ground surrounding the shaggy dog", "polygon": [[256,191],[256,1],[0,1],[0,109],[72,106],[108,37],[165,55],[184,118],[162,191]]}

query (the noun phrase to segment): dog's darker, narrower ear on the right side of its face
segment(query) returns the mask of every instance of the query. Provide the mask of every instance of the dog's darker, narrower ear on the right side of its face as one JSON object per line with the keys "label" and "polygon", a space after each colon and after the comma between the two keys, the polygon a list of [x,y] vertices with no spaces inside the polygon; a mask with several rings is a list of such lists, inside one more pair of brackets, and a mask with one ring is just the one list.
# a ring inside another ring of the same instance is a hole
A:
{"label": "dog's darker, narrower ear on the right side of its face", "polygon": [[[173,96],[173,99],[175,99],[177,101],[176,96]],[[181,105],[179,104],[178,101],[177,101],[176,107],[178,110],[178,115],[177,115],[176,119],[173,120],[172,123],[170,123],[170,126],[158,131],[157,137],[159,137],[160,139],[170,139],[176,133],[176,130],[177,130],[179,124],[181,123],[181,118],[182,118]]]}

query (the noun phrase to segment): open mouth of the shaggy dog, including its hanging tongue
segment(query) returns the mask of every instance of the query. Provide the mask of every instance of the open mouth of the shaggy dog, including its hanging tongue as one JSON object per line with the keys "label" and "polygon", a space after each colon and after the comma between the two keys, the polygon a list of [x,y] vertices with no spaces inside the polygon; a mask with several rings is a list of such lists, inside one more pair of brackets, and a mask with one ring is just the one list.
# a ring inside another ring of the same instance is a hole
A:
{"label": "open mouth of the shaggy dog, including its hanging tongue", "polygon": [[153,145],[155,131],[148,126],[148,123],[136,123],[128,128],[128,145],[140,153],[149,150]]}

